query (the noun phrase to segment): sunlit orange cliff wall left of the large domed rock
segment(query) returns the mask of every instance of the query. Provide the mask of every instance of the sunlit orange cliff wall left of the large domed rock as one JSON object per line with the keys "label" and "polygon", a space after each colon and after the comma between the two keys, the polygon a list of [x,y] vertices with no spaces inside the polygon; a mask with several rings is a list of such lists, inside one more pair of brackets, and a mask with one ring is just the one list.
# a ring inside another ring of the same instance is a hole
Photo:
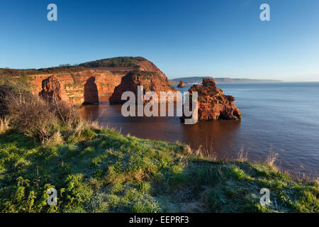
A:
{"label": "sunlit orange cliff wall left of the large domed rock", "polygon": [[99,96],[112,94],[123,74],[99,70],[74,73],[30,75],[33,94],[55,98],[72,105],[99,103]]}

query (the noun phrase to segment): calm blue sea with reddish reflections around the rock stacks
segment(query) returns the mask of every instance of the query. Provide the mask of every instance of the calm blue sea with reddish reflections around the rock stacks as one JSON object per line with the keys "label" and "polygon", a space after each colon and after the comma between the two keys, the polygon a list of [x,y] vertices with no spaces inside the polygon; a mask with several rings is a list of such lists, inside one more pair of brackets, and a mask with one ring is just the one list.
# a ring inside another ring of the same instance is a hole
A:
{"label": "calm blue sea with reddish reflections around the rock stacks", "polygon": [[[272,84],[218,84],[235,96],[241,121],[211,121],[184,125],[178,117],[128,117],[121,105],[84,106],[86,118],[97,119],[123,134],[140,138],[179,141],[202,146],[220,159],[237,158],[243,148],[249,160],[263,161],[269,150],[279,153],[276,165],[293,175],[318,177],[319,82]],[[180,91],[187,91],[186,85]]]}

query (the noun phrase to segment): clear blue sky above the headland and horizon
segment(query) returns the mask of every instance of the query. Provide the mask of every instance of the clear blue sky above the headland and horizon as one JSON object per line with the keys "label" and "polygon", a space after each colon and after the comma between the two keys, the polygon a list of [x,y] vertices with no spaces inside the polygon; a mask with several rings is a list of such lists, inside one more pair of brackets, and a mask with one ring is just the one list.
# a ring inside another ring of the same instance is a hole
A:
{"label": "clear blue sky above the headland and horizon", "polygon": [[319,80],[318,12],[318,0],[1,1],[0,67],[142,56],[169,78]]}

